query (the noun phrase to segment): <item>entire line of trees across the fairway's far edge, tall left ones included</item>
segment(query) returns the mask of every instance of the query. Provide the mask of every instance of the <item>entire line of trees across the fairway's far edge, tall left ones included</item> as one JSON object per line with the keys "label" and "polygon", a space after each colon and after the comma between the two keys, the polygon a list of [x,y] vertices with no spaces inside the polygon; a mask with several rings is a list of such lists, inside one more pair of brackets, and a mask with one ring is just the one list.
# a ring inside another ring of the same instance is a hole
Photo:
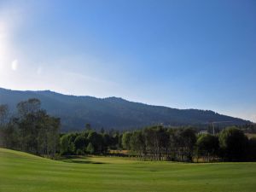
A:
{"label": "entire line of trees across the fairway's far edge, tall left ones included", "polygon": [[149,126],[136,131],[84,131],[60,133],[61,119],[47,114],[38,99],[17,104],[8,118],[8,106],[0,105],[0,147],[53,157],[109,154],[113,149],[140,160],[246,161],[256,160],[256,138],[232,126],[217,135],[198,134],[192,127]]}

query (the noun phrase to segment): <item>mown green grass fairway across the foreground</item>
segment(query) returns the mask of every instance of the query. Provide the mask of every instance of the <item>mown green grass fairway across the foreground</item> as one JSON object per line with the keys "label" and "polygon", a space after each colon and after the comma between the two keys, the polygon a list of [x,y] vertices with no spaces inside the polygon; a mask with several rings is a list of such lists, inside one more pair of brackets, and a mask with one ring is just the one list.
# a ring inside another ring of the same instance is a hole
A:
{"label": "mown green grass fairway across the foreground", "polygon": [[115,157],[47,160],[0,148],[1,192],[256,191],[256,163],[185,164]]}

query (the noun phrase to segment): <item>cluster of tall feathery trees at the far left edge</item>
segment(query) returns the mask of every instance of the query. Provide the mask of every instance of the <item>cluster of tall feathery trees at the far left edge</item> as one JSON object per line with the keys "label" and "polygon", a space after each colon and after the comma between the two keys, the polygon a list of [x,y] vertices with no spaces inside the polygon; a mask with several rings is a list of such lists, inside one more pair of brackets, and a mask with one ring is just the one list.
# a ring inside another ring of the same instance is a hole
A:
{"label": "cluster of tall feathery trees at the far left edge", "polygon": [[59,147],[61,120],[41,109],[38,99],[17,105],[17,114],[8,119],[8,107],[0,106],[0,146],[32,154],[54,156]]}

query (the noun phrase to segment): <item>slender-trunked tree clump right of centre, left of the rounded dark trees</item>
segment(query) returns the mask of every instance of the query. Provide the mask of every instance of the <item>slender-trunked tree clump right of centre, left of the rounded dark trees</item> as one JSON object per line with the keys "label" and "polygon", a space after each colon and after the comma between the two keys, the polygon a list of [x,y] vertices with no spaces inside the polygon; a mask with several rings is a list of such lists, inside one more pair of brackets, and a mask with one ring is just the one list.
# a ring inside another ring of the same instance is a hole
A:
{"label": "slender-trunked tree clump right of centre, left of the rounded dark trees", "polygon": [[193,129],[166,129],[162,126],[125,132],[122,138],[124,148],[142,160],[191,161],[195,142]]}

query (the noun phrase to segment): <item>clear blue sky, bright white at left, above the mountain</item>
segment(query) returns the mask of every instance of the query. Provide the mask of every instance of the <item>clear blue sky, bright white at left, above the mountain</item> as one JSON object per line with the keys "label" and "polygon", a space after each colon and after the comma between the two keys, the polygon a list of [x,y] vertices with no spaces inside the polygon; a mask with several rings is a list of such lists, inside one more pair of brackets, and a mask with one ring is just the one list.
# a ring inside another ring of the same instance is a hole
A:
{"label": "clear blue sky, bright white at left, above the mountain", "polygon": [[0,0],[0,87],[256,121],[255,0]]}

